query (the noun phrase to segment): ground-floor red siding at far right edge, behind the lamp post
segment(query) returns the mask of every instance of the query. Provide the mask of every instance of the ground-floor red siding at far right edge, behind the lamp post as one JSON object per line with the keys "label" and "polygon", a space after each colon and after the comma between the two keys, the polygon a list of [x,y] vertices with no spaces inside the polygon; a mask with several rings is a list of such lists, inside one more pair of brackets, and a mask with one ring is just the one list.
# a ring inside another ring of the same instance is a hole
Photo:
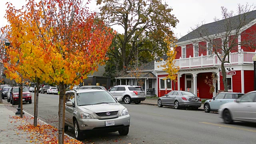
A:
{"label": "ground-floor red siding at far right edge, behind the lamp post", "polygon": [[244,70],[244,93],[254,90],[253,70]]}

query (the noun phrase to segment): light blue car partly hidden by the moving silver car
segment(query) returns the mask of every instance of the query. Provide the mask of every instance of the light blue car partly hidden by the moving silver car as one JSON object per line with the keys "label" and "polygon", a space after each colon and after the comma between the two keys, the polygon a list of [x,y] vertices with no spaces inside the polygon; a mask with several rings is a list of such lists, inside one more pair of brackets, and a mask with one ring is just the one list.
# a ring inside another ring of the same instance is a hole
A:
{"label": "light blue car partly hidden by the moving silver car", "polygon": [[236,99],[240,98],[244,94],[236,92],[220,92],[217,96],[211,100],[206,100],[204,103],[204,112],[218,111],[222,104],[228,102],[236,102]]}

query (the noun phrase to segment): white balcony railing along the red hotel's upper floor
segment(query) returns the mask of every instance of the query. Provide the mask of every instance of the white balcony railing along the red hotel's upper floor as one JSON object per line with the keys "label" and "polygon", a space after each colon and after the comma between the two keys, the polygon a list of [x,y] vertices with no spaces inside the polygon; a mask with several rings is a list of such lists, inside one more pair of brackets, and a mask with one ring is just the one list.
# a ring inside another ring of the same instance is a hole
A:
{"label": "white balcony railing along the red hotel's upper floor", "polygon": [[[229,54],[230,63],[228,64],[253,64],[252,57],[256,54],[256,52],[234,52]],[[226,58],[228,60],[228,58]],[[218,56],[198,56],[192,58],[180,58],[175,61],[175,66],[179,66],[180,68],[193,68],[193,67],[203,67],[203,66],[218,66],[221,64]],[[162,70],[162,65],[166,64],[166,61],[156,62],[155,61],[155,70]]]}

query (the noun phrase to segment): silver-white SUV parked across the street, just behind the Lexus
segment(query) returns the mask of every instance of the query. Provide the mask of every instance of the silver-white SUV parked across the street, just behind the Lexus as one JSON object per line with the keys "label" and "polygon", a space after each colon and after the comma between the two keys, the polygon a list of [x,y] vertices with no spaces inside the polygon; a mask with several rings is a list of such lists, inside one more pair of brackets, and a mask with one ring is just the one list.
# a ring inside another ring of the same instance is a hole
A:
{"label": "silver-white SUV parked across the street, just behind the Lexus", "polygon": [[146,99],[145,91],[141,86],[119,85],[110,88],[108,91],[114,98],[122,98],[126,104],[130,104],[131,102],[140,104],[141,101]]}

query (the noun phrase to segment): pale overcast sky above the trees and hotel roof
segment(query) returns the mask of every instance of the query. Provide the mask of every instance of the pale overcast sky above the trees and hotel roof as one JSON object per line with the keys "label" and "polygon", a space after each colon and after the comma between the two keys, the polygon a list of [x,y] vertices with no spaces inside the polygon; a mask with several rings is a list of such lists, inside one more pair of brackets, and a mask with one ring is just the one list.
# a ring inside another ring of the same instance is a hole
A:
{"label": "pale overcast sky above the trees and hotel roof", "polygon": [[[6,2],[11,2],[16,8],[21,8],[26,4],[26,0],[0,0],[0,26],[5,26],[7,20],[4,18]],[[168,5],[173,8],[174,14],[180,21],[173,29],[178,38],[188,34],[191,27],[202,21],[206,23],[214,22],[214,17],[222,18],[220,7],[224,6],[228,10],[236,12],[238,4],[252,5],[255,0],[166,0]],[[95,0],[92,0],[89,8],[92,11],[97,9]],[[121,32],[121,30],[116,29]]]}

